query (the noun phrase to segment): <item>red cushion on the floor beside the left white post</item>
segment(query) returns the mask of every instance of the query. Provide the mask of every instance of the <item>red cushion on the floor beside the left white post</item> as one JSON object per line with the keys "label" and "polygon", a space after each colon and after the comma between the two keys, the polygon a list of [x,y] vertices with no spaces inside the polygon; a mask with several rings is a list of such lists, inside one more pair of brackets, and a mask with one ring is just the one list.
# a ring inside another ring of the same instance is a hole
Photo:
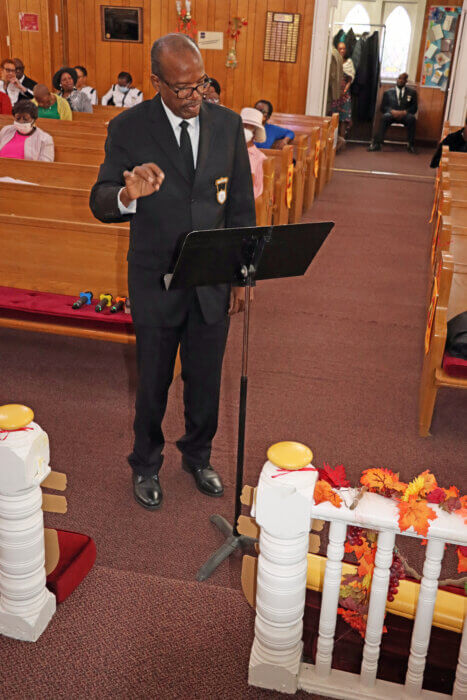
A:
{"label": "red cushion on the floor beside the left white post", "polygon": [[47,576],[47,588],[62,603],[88,575],[96,561],[96,545],[88,535],[57,530],[60,558]]}

